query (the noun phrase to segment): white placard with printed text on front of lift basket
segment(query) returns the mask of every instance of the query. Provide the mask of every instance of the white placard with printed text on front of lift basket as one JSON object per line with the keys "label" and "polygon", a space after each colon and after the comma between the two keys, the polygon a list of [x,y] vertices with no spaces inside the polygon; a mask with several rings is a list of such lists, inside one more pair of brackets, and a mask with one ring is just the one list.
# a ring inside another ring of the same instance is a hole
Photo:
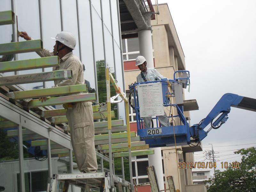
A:
{"label": "white placard with printed text on front of lift basket", "polygon": [[138,85],[140,117],[164,115],[163,93],[160,82]]}

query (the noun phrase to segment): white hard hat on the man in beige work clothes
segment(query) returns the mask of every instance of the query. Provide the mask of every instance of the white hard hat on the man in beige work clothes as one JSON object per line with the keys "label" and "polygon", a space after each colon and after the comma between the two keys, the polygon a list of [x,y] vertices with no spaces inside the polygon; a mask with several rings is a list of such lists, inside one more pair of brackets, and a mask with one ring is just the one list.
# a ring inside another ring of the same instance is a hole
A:
{"label": "white hard hat on the man in beige work clothes", "polygon": [[61,31],[56,35],[55,38],[51,37],[51,39],[59,41],[60,43],[68,46],[71,49],[75,49],[76,47],[76,37],[69,31]]}

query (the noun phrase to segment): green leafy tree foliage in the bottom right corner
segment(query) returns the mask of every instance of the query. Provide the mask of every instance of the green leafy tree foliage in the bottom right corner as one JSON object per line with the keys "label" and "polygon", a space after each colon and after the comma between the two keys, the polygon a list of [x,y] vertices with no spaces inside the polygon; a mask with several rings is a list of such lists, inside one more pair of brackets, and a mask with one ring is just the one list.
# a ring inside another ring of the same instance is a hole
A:
{"label": "green leafy tree foliage in the bottom right corner", "polygon": [[256,191],[256,148],[240,149],[234,152],[241,154],[239,168],[229,167],[223,172],[217,170],[210,184],[208,192],[255,192]]}

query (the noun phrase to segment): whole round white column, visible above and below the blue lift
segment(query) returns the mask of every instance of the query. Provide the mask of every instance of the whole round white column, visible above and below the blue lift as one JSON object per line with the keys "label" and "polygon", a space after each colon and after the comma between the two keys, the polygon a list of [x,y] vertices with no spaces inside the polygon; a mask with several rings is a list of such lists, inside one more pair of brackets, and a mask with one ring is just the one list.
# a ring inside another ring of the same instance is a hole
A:
{"label": "whole round white column, visible above and below the blue lift", "polygon": [[[153,52],[152,52],[152,39],[150,30],[142,30],[139,35],[140,55],[147,60],[147,67],[154,68]],[[156,125],[156,121],[154,122]],[[148,165],[155,166],[157,182],[160,190],[164,190],[164,176],[162,167],[161,148],[151,148],[155,150],[154,155],[148,155]]]}

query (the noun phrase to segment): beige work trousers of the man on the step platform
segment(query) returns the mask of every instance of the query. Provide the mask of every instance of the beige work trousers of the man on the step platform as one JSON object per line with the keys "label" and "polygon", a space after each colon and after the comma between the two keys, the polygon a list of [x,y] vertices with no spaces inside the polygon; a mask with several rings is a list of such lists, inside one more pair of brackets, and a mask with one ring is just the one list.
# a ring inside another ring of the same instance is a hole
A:
{"label": "beige work trousers of the man on the step platform", "polygon": [[92,102],[74,104],[67,110],[71,144],[80,172],[96,172],[98,169],[94,147]]}

